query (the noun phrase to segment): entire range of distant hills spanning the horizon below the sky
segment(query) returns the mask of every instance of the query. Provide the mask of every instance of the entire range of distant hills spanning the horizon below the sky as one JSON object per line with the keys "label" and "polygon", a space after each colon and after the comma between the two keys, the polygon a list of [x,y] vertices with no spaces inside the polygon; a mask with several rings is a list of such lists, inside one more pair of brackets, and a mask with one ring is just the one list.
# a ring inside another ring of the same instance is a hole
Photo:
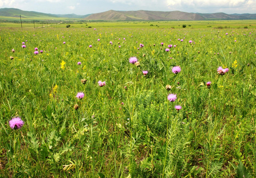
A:
{"label": "entire range of distant hills spanning the horizon below the sky", "polygon": [[1,17],[16,17],[21,15],[22,18],[31,19],[77,19],[77,20],[104,20],[104,21],[118,21],[118,20],[238,20],[238,19],[256,19],[256,14],[226,14],[219,13],[189,13],[182,11],[116,11],[109,10],[101,13],[76,15],[76,14],[48,14],[35,11],[23,11],[16,8],[0,8]]}

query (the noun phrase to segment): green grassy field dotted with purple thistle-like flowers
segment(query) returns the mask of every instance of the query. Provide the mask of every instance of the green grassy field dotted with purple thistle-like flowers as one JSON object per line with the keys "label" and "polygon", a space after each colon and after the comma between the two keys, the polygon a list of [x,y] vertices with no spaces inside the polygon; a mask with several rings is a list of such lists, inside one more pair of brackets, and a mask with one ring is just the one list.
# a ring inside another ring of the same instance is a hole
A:
{"label": "green grassy field dotted with purple thistle-like flowers", "polygon": [[0,178],[256,177],[255,20],[19,25]]}

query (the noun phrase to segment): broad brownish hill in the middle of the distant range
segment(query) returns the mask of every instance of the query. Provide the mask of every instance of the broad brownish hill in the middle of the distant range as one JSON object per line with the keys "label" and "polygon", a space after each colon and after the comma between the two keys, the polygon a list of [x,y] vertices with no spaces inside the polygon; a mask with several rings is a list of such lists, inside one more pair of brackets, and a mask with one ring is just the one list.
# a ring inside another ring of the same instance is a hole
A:
{"label": "broad brownish hill in the middle of the distant range", "polygon": [[106,12],[91,14],[84,20],[204,20],[202,16],[196,13],[181,11],[116,11],[109,10]]}

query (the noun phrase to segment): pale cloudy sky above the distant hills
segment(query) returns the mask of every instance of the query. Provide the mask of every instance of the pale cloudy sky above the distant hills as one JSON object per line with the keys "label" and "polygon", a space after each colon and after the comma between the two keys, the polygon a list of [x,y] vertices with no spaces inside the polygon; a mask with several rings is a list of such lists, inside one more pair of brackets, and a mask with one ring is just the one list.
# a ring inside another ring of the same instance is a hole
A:
{"label": "pale cloudy sky above the distant hills", "polygon": [[256,0],[0,0],[0,8],[18,8],[52,14],[108,10],[184,11],[198,13],[256,13]]}

